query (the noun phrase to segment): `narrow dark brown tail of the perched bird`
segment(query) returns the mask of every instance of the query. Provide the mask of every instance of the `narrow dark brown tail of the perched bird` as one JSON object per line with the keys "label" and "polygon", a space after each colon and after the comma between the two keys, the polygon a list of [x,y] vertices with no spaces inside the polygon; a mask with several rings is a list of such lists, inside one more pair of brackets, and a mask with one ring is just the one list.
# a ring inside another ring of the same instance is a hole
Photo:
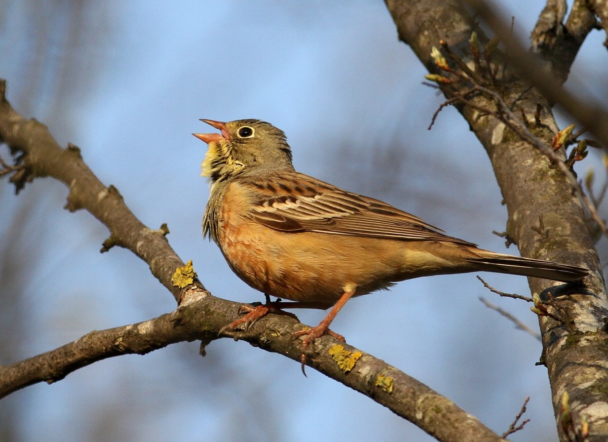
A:
{"label": "narrow dark brown tail of the perched bird", "polygon": [[480,264],[479,270],[533,276],[562,282],[580,281],[589,274],[588,269],[576,265],[559,264],[558,262],[522,258],[489,251],[487,253],[486,256],[482,255],[474,259],[476,264]]}

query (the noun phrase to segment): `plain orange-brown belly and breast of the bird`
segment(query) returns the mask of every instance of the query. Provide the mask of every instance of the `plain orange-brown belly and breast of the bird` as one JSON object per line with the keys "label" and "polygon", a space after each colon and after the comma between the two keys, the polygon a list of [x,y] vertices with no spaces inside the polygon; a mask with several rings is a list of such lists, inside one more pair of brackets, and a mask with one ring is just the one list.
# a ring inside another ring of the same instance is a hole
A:
{"label": "plain orange-brown belly and breast of the bird", "polygon": [[272,230],[255,222],[227,225],[219,246],[230,268],[251,287],[292,301],[333,303],[345,285],[354,296],[392,282],[441,273],[433,254],[407,259],[405,243],[390,239]]}

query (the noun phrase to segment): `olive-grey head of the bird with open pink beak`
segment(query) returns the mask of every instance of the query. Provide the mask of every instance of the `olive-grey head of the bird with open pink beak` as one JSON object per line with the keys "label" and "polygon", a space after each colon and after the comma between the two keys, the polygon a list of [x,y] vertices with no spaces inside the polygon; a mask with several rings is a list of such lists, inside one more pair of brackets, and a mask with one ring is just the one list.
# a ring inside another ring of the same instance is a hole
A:
{"label": "olive-grey head of the bird with open pink beak", "polygon": [[[201,175],[212,182],[225,180],[253,168],[292,170],[291,149],[285,134],[260,120],[204,120],[221,134],[192,134],[209,144]],[[260,169],[261,170],[261,169]]]}

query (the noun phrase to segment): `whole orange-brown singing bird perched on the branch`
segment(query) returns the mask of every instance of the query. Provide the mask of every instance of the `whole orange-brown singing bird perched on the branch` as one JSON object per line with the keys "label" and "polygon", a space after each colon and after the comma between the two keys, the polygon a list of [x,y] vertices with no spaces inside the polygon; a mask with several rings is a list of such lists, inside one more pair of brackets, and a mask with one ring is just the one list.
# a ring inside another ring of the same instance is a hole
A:
{"label": "whole orange-brown singing bird perched on the branch", "polygon": [[319,325],[294,334],[303,336],[302,371],[317,338],[344,341],[329,327],[355,296],[438,274],[489,271],[576,282],[589,273],[483,250],[381,200],[297,172],[285,133],[266,121],[201,121],[219,131],[193,134],[209,145],[201,163],[210,182],[203,236],[238,277],[266,295],[266,304],[243,307],[246,315],[224,328],[249,327],[280,307],[331,307]]}

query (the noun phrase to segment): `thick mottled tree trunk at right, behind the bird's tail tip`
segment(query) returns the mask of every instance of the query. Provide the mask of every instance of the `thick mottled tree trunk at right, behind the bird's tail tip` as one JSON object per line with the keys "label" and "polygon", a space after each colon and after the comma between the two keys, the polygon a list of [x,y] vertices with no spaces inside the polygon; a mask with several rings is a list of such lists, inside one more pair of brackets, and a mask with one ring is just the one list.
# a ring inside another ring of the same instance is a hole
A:
{"label": "thick mottled tree trunk at right, behind the bird's tail tip", "polygon": [[[409,44],[418,58],[432,73],[442,73],[430,56],[432,47],[440,47],[440,41],[466,63],[475,66],[472,60],[472,32],[477,33],[483,47],[488,38],[478,29],[474,19],[466,12],[458,0],[387,0],[387,5],[397,25],[399,37]],[[479,2],[475,2],[480,9]],[[424,19],[420,19],[424,18]],[[494,22],[488,19],[493,26]],[[504,27],[504,26],[503,26]],[[503,29],[501,27],[500,29]],[[496,29],[496,28],[494,28]],[[551,146],[558,127],[551,112],[551,101],[559,101],[575,114],[578,101],[572,104],[561,101],[564,97],[556,94],[555,81],[547,81],[542,70],[536,70],[529,57],[519,58],[507,30],[498,32],[505,35],[505,46],[512,63],[527,66],[519,69],[521,75],[539,75],[530,81],[539,89],[530,86],[528,78],[516,77],[506,73],[502,67],[492,72],[500,72],[499,81],[488,81],[486,87],[496,89],[502,100],[508,103],[523,126],[546,146]],[[494,57],[492,64],[499,64],[500,58]],[[458,66],[455,65],[455,69]],[[492,73],[479,70],[474,74],[479,78],[492,78]],[[608,299],[604,288],[599,259],[593,247],[593,240],[585,224],[585,216],[580,201],[573,195],[572,185],[567,174],[548,160],[537,146],[523,140],[497,118],[497,104],[494,97],[478,93],[468,95],[468,86],[462,82],[444,84],[442,90],[447,100],[454,97],[467,97],[457,100],[458,110],[469,123],[471,130],[488,152],[492,167],[500,185],[508,209],[507,231],[517,243],[522,256],[537,257],[558,262],[583,264],[593,271],[586,279],[586,285],[578,293],[560,296],[555,287],[547,281],[530,278],[533,293],[553,295],[559,307],[572,319],[573,332],[547,317],[539,319],[544,345],[542,362],[547,365],[556,419],[561,420],[561,399],[564,392],[570,394],[575,423],[580,424],[585,415],[590,418],[588,441],[605,441],[608,437],[608,401],[603,387],[608,384],[606,368],[606,331],[604,318],[608,316]],[[543,94],[547,92],[547,95]],[[571,105],[572,104],[572,105]],[[483,111],[486,109],[487,111]],[[598,116],[603,118],[603,110],[598,105],[584,106],[577,114],[580,121],[593,128],[593,133],[608,141],[608,124],[597,123]],[[593,117],[589,120],[589,117]],[[604,120],[606,121],[606,120]],[[601,126],[601,127],[598,127]],[[564,152],[559,152],[561,160]],[[598,407],[602,404],[602,407]],[[561,426],[558,431],[562,440],[568,440]]]}

